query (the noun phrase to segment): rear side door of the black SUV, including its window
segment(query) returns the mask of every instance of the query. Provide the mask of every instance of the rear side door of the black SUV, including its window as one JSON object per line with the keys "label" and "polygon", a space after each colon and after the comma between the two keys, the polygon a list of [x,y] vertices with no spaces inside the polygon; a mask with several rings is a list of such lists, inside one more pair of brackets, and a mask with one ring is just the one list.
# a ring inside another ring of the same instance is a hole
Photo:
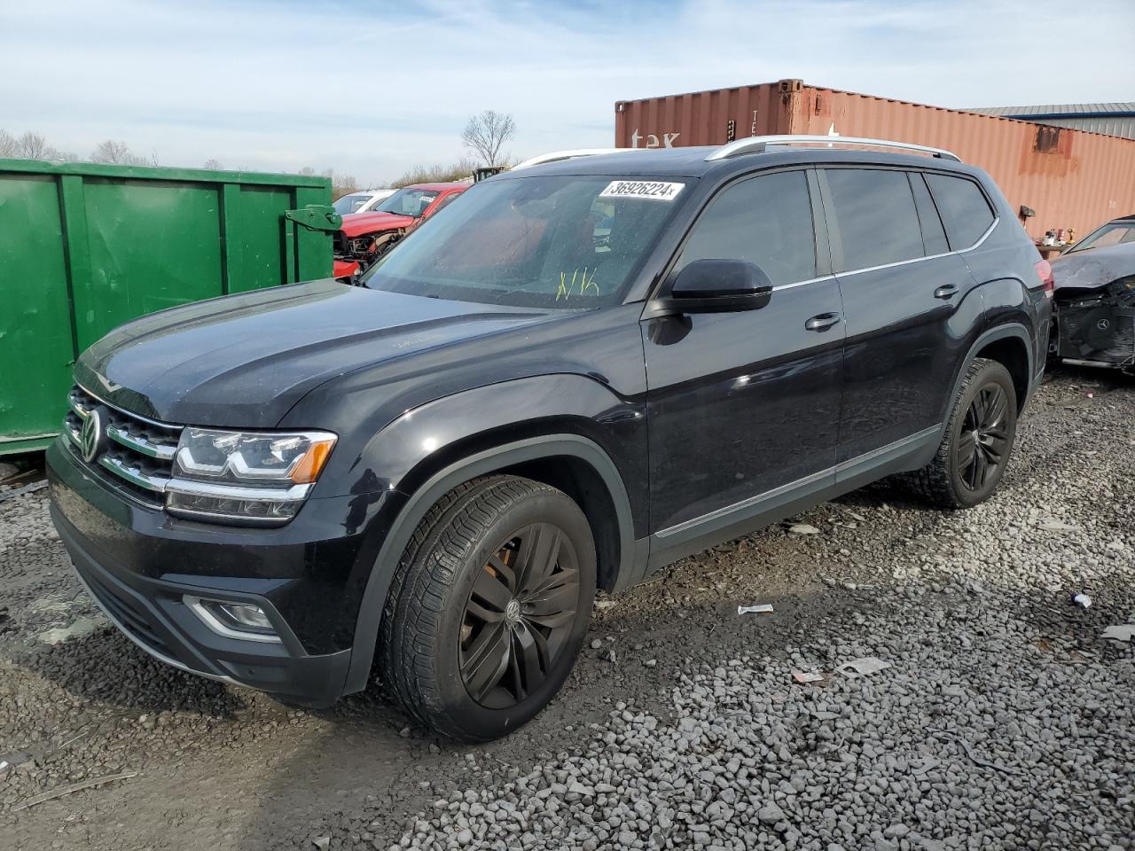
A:
{"label": "rear side door of the black SUV, including its window", "polygon": [[973,277],[950,251],[920,172],[819,176],[847,321],[839,462],[850,475],[857,461],[935,438],[981,298],[967,297]]}

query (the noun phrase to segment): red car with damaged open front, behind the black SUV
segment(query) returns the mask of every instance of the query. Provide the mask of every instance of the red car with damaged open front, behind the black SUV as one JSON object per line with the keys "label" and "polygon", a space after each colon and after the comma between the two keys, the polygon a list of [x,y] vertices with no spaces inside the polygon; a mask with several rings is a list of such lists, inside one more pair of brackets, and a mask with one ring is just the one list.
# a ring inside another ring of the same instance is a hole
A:
{"label": "red car with damaged open front, behind the black SUV", "polygon": [[336,278],[350,279],[472,184],[420,183],[406,186],[369,212],[348,213],[335,234]]}

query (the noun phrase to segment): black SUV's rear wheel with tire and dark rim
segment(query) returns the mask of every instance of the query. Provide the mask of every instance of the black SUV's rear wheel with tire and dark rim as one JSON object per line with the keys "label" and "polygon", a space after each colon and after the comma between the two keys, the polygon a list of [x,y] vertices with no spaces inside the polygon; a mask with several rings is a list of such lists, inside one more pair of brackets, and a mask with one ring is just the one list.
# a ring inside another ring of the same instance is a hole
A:
{"label": "black SUV's rear wheel with tire and dark rim", "polygon": [[940,508],[972,508],[997,489],[1016,435],[1012,377],[997,361],[977,357],[966,370],[934,458],[906,481]]}

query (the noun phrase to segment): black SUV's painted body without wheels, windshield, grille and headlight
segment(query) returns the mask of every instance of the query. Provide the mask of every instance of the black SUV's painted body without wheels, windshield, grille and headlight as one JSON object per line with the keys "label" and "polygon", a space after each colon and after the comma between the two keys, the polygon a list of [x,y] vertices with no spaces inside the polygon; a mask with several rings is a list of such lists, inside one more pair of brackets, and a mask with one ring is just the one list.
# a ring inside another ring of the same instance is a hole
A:
{"label": "black SUV's painted body without wheels, windshield, grille and headlight", "polygon": [[[96,598],[103,589],[114,609],[117,589],[133,607],[125,614],[158,635],[151,651],[188,669],[327,702],[365,685],[394,566],[430,506],[473,477],[504,471],[569,492],[595,529],[600,585],[621,589],[920,467],[974,357],[1002,360],[1027,401],[1043,370],[1050,301],[1035,248],[980,170],[866,151],[706,153],[505,172],[389,255],[439,238],[446,217],[497,182],[681,179],[621,303],[514,307],[314,281],[163,311],[96,343],[75,376],[107,405],[178,427],[337,436],[296,516],[272,529],[140,504],[60,438],[48,456],[53,516]],[[849,262],[861,241],[827,174],[849,168],[909,187],[917,256]],[[759,310],[675,309],[672,284],[714,205],[785,174],[806,193],[781,242],[810,244],[807,262],[770,260],[777,278]],[[973,184],[987,205],[989,226],[965,244],[940,220],[924,183],[932,175]],[[281,643],[202,633],[182,601],[199,590],[255,603]]]}

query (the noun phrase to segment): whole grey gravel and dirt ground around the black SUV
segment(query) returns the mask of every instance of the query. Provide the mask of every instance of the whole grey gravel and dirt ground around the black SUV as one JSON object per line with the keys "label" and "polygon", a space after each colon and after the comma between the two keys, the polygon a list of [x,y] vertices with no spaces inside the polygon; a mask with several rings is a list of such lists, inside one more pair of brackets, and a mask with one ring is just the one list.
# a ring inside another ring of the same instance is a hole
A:
{"label": "whole grey gravel and dirt ground around the black SUV", "polygon": [[[0,836],[1133,851],[1135,648],[1101,638],[1135,623],[1132,447],[1135,382],[1060,372],[990,503],[881,485],[686,559],[600,600],[561,698],[477,748],[380,689],[302,713],[150,660],[70,579],[43,492],[0,491]],[[888,667],[838,669],[863,657]]]}

